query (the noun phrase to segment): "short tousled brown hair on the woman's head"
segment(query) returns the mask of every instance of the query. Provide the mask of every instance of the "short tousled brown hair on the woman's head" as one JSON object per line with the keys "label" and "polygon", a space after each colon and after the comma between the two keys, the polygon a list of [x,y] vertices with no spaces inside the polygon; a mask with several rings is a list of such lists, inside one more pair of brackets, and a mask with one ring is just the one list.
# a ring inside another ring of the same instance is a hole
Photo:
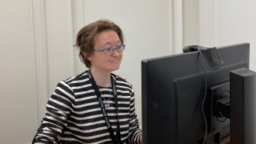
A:
{"label": "short tousled brown hair on the woman's head", "polygon": [[121,43],[124,43],[121,28],[109,20],[99,20],[88,24],[79,30],[78,34],[76,35],[75,46],[77,49],[79,49],[79,58],[89,69],[91,68],[92,63],[87,58],[92,56],[95,37],[104,30],[114,30],[118,34]]}

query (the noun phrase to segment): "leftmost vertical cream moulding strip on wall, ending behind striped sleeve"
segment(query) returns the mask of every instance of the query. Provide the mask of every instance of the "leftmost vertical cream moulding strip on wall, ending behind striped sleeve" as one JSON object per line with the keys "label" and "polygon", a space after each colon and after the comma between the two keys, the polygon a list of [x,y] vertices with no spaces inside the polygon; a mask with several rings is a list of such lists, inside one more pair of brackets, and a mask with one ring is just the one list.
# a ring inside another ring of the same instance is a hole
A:
{"label": "leftmost vertical cream moulding strip on wall, ending behind striped sleeve", "polygon": [[38,125],[44,117],[45,106],[49,98],[48,62],[47,62],[47,30],[45,19],[45,1],[31,0],[32,21],[34,31],[34,56],[37,88]]}

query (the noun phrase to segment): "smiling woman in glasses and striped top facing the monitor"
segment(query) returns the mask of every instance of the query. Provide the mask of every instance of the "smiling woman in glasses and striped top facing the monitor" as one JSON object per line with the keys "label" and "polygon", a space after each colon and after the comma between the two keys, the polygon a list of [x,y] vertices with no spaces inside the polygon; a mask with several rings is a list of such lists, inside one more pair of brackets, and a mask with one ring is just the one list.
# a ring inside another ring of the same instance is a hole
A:
{"label": "smiling woman in glasses and striped top facing the monitor", "polygon": [[61,81],[47,102],[33,143],[142,143],[131,84],[112,72],[125,50],[122,30],[100,20],[79,30],[81,61],[89,69]]}

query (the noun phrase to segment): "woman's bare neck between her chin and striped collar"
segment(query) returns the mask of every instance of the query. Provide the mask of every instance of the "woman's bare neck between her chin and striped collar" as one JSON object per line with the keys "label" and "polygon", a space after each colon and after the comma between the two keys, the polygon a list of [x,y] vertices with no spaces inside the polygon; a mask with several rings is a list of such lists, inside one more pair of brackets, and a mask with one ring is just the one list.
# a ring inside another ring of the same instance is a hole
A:
{"label": "woman's bare neck between her chin and striped collar", "polygon": [[90,69],[92,72],[92,77],[94,78],[95,82],[97,85],[102,86],[102,87],[111,87],[111,78],[110,72],[100,72],[97,71],[96,69]]}

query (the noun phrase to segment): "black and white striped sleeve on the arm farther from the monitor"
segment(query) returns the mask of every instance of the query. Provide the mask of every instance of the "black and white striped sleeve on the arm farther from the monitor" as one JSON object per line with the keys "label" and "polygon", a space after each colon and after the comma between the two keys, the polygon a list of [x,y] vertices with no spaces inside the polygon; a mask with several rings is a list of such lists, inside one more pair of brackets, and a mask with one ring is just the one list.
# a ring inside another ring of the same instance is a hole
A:
{"label": "black and white striped sleeve on the arm farther from the monitor", "polygon": [[58,143],[66,119],[73,110],[73,90],[65,82],[59,82],[47,102],[46,116],[37,130],[34,143]]}

